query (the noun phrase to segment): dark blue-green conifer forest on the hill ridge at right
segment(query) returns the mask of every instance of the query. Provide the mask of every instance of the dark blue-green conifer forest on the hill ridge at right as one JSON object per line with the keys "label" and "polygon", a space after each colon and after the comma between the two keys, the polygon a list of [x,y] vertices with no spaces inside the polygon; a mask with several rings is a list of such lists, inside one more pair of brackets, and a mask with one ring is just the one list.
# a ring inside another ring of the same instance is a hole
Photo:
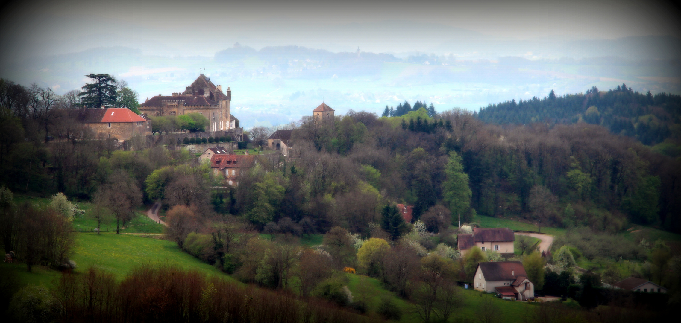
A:
{"label": "dark blue-green conifer forest on the hill ridge at right", "polygon": [[678,146],[678,124],[681,123],[681,96],[650,91],[640,93],[627,84],[601,91],[593,86],[585,93],[515,99],[490,104],[475,114],[484,122],[496,124],[573,124],[585,122],[605,126],[612,133],[633,137],[648,146],[665,140]]}

